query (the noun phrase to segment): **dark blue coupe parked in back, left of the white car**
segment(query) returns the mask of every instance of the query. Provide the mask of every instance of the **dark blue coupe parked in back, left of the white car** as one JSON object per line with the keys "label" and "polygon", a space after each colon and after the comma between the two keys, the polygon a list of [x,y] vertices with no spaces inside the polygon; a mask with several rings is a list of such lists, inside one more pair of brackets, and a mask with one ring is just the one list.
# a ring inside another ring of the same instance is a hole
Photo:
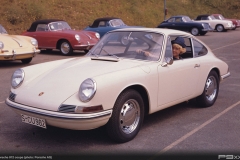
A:
{"label": "dark blue coupe parked in back, left of the white car", "polygon": [[169,28],[181,31],[190,32],[192,35],[205,35],[208,31],[213,29],[208,23],[197,23],[192,21],[188,16],[178,15],[172,16],[169,19],[160,23],[157,28]]}

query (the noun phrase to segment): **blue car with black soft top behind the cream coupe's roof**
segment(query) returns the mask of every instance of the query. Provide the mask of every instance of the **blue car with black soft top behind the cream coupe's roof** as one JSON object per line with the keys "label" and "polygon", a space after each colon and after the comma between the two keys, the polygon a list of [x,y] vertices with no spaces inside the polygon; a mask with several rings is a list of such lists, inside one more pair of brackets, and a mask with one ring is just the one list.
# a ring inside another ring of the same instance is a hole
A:
{"label": "blue car with black soft top behind the cream coupe's roof", "polygon": [[100,37],[102,38],[102,36],[106,34],[108,31],[121,29],[121,28],[131,28],[131,27],[140,27],[140,26],[128,26],[122,21],[122,19],[117,17],[103,17],[103,18],[98,18],[94,20],[93,24],[89,25],[84,30],[97,32],[100,34]]}

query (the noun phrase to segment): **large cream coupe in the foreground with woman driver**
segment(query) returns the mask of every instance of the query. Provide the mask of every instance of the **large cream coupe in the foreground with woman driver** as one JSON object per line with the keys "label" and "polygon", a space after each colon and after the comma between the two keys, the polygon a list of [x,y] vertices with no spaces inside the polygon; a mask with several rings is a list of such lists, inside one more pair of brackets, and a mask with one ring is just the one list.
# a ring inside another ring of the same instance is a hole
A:
{"label": "large cream coupe in the foreground with woman driver", "polygon": [[[123,36],[128,45],[119,41]],[[186,53],[173,60],[171,43],[177,37],[183,38]],[[127,142],[138,134],[145,115],[195,97],[200,107],[212,106],[228,76],[228,65],[189,33],[119,29],[84,57],[17,69],[6,104],[28,124],[73,130],[106,125],[110,138]]]}

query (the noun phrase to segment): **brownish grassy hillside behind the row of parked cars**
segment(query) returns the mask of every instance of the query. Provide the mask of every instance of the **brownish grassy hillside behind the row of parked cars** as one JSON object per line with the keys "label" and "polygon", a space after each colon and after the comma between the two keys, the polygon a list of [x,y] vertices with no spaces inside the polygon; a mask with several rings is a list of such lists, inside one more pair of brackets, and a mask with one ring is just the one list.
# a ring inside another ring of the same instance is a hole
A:
{"label": "brownish grassy hillside behind the row of parked cars", "polygon": [[[166,0],[166,7],[167,18],[221,13],[240,19],[239,0]],[[1,0],[0,24],[10,34],[21,34],[38,19],[63,19],[83,29],[96,18],[114,16],[127,25],[156,27],[164,20],[163,9],[164,0]]]}

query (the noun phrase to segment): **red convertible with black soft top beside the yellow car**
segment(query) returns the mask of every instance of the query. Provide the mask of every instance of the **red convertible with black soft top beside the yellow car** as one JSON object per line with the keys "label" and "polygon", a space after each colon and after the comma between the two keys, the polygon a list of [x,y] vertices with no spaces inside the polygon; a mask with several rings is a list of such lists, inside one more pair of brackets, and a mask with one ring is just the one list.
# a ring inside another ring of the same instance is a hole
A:
{"label": "red convertible with black soft top beside the yellow car", "polygon": [[39,49],[59,49],[63,55],[71,55],[73,50],[88,52],[100,38],[96,32],[71,29],[58,19],[35,21],[22,35],[37,39]]}

